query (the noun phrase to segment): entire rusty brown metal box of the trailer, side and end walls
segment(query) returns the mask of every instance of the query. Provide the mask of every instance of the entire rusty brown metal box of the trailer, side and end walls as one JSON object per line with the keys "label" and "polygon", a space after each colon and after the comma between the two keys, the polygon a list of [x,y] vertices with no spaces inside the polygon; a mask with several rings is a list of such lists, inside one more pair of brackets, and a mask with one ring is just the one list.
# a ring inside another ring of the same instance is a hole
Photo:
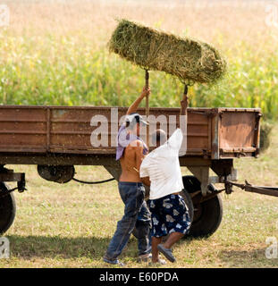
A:
{"label": "entire rusty brown metal box of the trailer, side and end walls", "polygon": [[[126,111],[118,107],[117,119]],[[253,156],[258,148],[258,113],[254,109],[189,108],[186,156]],[[145,114],[145,108],[139,108],[139,114]],[[179,122],[180,108],[150,108],[149,114],[166,116],[170,136],[175,124],[169,124],[169,119],[173,116]],[[98,127],[90,124],[95,115],[107,119],[108,147],[91,145],[91,133]],[[111,107],[1,105],[0,153],[114,155],[118,128],[112,128]]]}

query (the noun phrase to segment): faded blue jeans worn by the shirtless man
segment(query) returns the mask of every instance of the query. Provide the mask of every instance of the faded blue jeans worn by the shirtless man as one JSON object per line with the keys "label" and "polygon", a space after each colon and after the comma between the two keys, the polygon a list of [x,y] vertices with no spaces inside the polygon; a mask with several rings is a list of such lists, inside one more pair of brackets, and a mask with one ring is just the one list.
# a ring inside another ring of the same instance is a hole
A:
{"label": "faded blue jeans worn by the shirtless man", "polygon": [[117,259],[122,249],[127,245],[131,232],[137,228],[139,255],[151,251],[149,240],[150,212],[147,208],[145,188],[140,182],[119,181],[119,192],[124,203],[124,214],[117,223],[114,237],[110,241],[105,257],[110,260]]}

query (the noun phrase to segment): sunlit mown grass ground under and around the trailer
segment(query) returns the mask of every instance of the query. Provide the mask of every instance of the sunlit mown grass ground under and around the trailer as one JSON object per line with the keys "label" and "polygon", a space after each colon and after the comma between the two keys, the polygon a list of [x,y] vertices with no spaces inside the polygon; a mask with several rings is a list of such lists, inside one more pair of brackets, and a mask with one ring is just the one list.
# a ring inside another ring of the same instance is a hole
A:
{"label": "sunlit mown grass ground under and around the trailer", "polygon": [[[272,145],[257,159],[236,159],[239,181],[278,185],[278,125]],[[17,214],[4,236],[10,240],[11,258],[0,267],[116,267],[102,261],[123,204],[116,182],[86,186],[43,181],[36,166],[13,165],[26,172],[28,191],[15,193]],[[77,177],[88,181],[109,178],[102,167],[77,166]],[[183,173],[186,172],[182,168]],[[181,240],[173,248],[176,264],[167,267],[277,267],[267,259],[267,237],[278,240],[277,198],[234,189],[222,194],[223,221],[208,239]],[[131,237],[122,252],[126,267],[148,267],[137,262],[137,242]],[[163,267],[163,266],[161,266]]]}

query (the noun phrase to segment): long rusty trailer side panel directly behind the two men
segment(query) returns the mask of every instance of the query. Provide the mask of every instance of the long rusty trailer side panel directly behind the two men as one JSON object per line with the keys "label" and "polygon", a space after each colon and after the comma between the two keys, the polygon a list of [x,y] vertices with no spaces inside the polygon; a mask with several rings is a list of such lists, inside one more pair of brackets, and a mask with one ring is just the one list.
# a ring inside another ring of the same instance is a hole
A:
{"label": "long rusty trailer side panel directly behind the two men", "polygon": [[[118,109],[118,120],[126,113],[127,108]],[[145,109],[139,108],[139,114],[144,114]],[[92,147],[90,143],[90,135],[97,126],[90,126],[90,120],[94,115],[104,115],[108,120],[108,147]],[[175,126],[169,125],[169,117],[176,116],[176,121],[179,122],[179,108],[150,108],[150,114],[156,118],[164,114],[167,118],[167,131],[170,136],[170,130],[174,130]],[[51,152],[71,151],[77,153],[114,153],[115,147],[112,146],[112,141],[115,141],[119,126],[111,128],[111,108],[108,107],[91,107],[80,108],[75,107],[55,107],[51,110],[50,124],[50,146]],[[157,124],[157,128],[159,125]],[[145,139],[144,137],[142,137]],[[206,111],[192,110],[189,111],[188,119],[188,154],[203,155],[204,150],[208,147],[208,117]],[[146,141],[146,139],[145,139]]]}

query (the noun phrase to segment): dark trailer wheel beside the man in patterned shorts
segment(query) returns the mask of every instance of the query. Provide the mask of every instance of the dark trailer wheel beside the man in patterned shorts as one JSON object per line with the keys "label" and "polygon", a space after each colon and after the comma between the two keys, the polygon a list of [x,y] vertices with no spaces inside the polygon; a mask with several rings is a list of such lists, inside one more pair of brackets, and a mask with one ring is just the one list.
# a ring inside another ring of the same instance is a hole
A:
{"label": "dark trailer wheel beside the man in patterned shorts", "polygon": [[[190,193],[201,189],[201,184],[196,177],[184,176],[182,179],[184,188]],[[209,185],[208,188],[215,189],[213,185]],[[208,237],[218,229],[222,221],[223,204],[221,197],[216,195],[214,198],[199,203],[200,198],[202,198],[201,194],[193,199],[194,216],[188,237]]]}

